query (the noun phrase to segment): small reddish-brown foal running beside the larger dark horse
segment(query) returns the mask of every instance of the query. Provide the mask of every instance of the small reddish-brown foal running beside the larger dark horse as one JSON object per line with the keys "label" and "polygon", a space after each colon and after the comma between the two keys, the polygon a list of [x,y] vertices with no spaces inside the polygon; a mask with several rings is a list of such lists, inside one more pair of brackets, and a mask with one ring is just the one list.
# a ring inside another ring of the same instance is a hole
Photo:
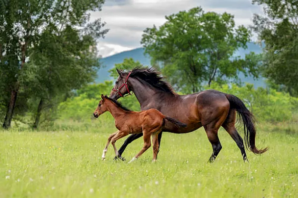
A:
{"label": "small reddish-brown foal running beside the larger dark horse", "polygon": [[[113,133],[108,138],[108,143],[103,149],[102,160],[105,159],[105,154],[108,150],[110,142],[112,143],[116,157],[119,156],[118,150],[115,146],[115,142],[120,138],[123,138],[129,134],[138,134],[143,132],[144,147],[141,151],[130,161],[138,159],[150,146],[150,136],[152,137],[153,143],[153,160],[156,161],[158,151],[158,134],[162,131],[162,128],[166,121],[172,122],[177,127],[186,127],[185,124],[179,122],[170,117],[165,117],[160,111],[156,109],[148,109],[145,111],[131,111],[123,107],[119,102],[114,99],[110,99],[107,96],[101,95],[96,110],[94,111],[94,117],[98,117],[102,113],[109,111],[115,119],[115,126],[118,129],[116,133]],[[129,162],[129,163],[130,163]]]}

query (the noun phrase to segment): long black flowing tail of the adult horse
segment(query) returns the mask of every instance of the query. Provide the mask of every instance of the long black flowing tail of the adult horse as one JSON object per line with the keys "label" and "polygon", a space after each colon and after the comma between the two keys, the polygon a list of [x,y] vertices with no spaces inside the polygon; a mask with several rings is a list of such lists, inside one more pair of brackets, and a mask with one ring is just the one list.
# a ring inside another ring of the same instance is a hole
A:
{"label": "long black flowing tail of the adult horse", "polygon": [[256,127],[252,113],[246,108],[241,99],[230,94],[226,94],[225,96],[230,103],[230,109],[236,109],[239,117],[242,118],[244,125],[244,143],[246,148],[255,154],[262,154],[267,151],[267,147],[263,149],[256,148]]}

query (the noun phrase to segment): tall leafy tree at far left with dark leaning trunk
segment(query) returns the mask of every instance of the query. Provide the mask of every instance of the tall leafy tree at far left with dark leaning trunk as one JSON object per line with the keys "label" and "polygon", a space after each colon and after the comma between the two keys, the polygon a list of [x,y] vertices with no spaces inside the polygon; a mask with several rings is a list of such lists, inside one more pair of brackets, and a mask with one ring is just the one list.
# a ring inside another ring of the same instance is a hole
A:
{"label": "tall leafy tree at far left with dark leaning trunk", "polygon": [[[61,37],[62,35],[59,35],[61,32],[69,27],[76,27],[91,38],[105,34],[107,31],[100,31],[103,24],[99,19],[93,23],[88,23],[90,18],[88,11],[101,10],[103,2],[104,0],[1,1],[0,43],[2,45],[0,46],[0,66],[2,70],[1,75],[9,73],[3,81],[5,81],[4,84],[9,90],[8,93],[10,93],[10,96],[7,97],[8,101],[6,101],[7,111],[3,128],[9,128],[10,126],[15,102],[22,84],[22,75],[30,73],[30,71],[26,70],[31,67],[25,66],[28,60],[31,61],[30,55],[34,54],[39,47],[46,48],[46,46],[40,46],[42,40],[47,40],[44,37],[46,32],[48,31],[48,36],[53,34]],[[57,42],[57,40],[51,41]],[[62,48],[64,47],[63,45],[67,44],[61,43]],[[73,50],[76,49],[79,48],[74,48]],[[51,53],[54,54],[55,51],[48,50],[48,54]],[[58,54],[56,53],[56,55]],[[74,53],[70,52],[68,55],[72,56]],[[45,60],[45,57],[43,58]],[[83,62],[84,59],[79,61]],[[46,63],[43,65],[46,65]],[[34,73],[32,73],[32,76],[34,76]],[[58,84],[56,85],[58,86]]]}

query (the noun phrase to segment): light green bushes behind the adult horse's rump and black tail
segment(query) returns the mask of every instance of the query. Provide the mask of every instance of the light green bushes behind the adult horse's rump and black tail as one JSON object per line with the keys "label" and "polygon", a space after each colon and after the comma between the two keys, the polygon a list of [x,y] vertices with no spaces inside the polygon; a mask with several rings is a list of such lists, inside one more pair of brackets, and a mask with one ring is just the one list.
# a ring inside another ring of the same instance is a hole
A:
{"label": "light green bushes behind the adult horse's rump and black tail", "polygon": [[274,89],[254,89],[251,84],[238,87],[235,84],[220,86],[214,83],[210,88],[239,97],[259,122],[297,121],[298,98],[287,93]]}

